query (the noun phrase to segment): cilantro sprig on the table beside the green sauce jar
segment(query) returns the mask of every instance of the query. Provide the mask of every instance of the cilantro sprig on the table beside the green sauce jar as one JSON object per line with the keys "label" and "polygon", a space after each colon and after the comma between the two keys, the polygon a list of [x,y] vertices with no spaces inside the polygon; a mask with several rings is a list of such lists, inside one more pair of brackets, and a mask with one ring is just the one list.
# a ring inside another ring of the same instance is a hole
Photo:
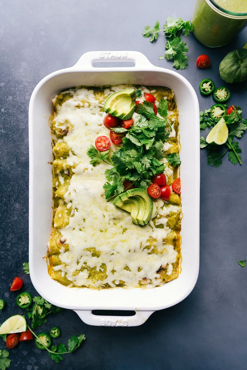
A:
{"label": "cilantro sprig on the table beside the green sauce jar", "polygon": [[159,59],[166,58],[167,60],[174,60],[173,67],[178,69],[185,69],[188,65],[187,51],[188,47],[184,41],[181,41],[181,31],[183,36],[188,36],[193,31],[193,26],[190,21],[184,22],[182,18],[168,17],[163,29],[160,29],[160,23],[156,21],[154,28],[145,26],[143,31],[144,37],[150,37],[150,42],[157,40],[159,31],[164,31],[167,43],[165,55],[160,56]]}

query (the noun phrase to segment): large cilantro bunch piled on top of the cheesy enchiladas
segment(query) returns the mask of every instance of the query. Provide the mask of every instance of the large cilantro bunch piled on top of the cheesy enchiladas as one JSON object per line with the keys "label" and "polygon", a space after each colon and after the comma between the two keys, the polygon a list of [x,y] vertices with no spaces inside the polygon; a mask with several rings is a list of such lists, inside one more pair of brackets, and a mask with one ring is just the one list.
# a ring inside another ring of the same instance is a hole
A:
{"label": "large cilantro bunch piled on top of the cheesy enchiladas", "polygon": [[[157,107],[161,118],[157,117],[153,111],[153,104],[144,101],[136,107],[139,117],[135,125],[129,129],[113,128],[117,133],[124,132],[125,136],[123,145],[114,151],[111,158],[107,153],[106,157],[101,159],[113,166],[105,171],[107,182],[103,188],[106,199],[124,191],[123,179],[130,180],[137,188],[147,189],[151,184],[151,178],[164,171],[165,166],[160,160],[164,158],[163,143],[169,137],[166,128],[171,129],[166,118],[167,109],[167,100],[161,99]],[[99,155],[96,155],[96,152],[93,145],[87,151],[92,159],[91,164],[99,161]]]}

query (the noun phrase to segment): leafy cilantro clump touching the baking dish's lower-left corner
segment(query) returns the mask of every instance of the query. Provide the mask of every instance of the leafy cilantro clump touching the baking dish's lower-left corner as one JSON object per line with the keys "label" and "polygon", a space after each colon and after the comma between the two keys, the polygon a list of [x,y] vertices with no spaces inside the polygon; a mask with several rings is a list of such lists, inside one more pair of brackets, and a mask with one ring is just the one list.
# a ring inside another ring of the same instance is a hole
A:
{"label": "leafy cilantro clump touching the baking dish's lower-left corner", "polygon": [[47,302],[43,297],[34,297],[33,302],[35,303],[33,309],[28,308],[28,317],[32,320],[32,328],[41,326],[43,323],[47,322],[47,315],[50,313],[60,313],[62,314],[63,309],[61,307],[53,306],[51,303]]}

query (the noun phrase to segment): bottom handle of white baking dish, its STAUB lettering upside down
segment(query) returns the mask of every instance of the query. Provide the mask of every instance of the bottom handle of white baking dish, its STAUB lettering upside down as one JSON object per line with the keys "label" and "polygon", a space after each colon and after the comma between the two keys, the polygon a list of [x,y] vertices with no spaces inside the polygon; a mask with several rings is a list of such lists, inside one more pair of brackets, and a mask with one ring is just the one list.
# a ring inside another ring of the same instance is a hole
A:
{"label": "bottom handle of white baking dish, its STAUB lettering upside down", "polygon": [[94,315],[90,310],[74,310],[80,319],[94,326],[139,326],[147,321],[154,311],[136,311],[134,316],[105,316]]}

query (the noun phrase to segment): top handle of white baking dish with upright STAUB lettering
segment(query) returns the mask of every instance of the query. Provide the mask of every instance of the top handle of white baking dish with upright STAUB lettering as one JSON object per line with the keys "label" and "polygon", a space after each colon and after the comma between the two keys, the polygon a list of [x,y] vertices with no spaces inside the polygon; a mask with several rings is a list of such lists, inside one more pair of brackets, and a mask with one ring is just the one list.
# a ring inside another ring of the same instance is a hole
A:
{"label": "top handle of white baking dish with upright STAUB lettering", "polygon": [[[96,62],[133,62],[131,69],[140,69],[143,67],[153,67],[153,64],[139,51],[88,51],[81,55],[79,61],[73,67],[94,68]],[[72,67],[72,68],[73,68]]]}

